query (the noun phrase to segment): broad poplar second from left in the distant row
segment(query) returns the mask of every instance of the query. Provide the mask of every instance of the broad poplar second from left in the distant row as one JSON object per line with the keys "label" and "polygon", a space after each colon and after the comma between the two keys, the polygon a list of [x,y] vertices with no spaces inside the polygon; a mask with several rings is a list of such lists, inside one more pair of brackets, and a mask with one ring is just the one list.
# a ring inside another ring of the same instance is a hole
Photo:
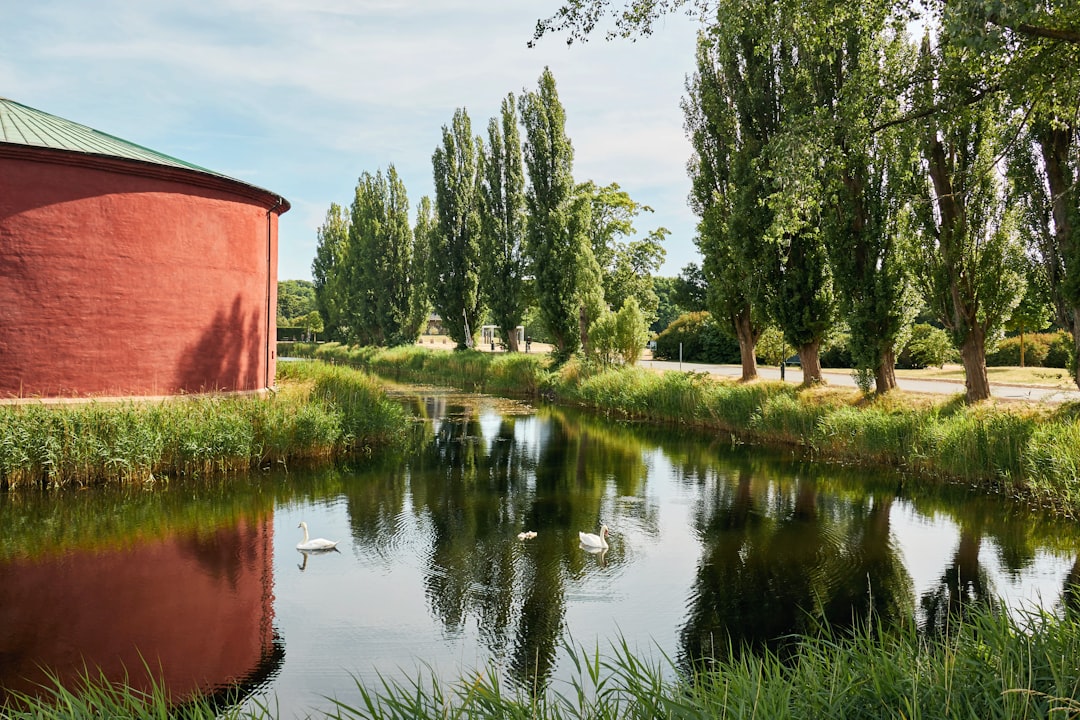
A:
{"label": "broad poplar second from left in the distant row", "polygon": [[379,345],[416,342],[420,328],[409,316],[416,286],[408,195],[393,165],[386,175],[361,175],[350,220],[352,339]]}

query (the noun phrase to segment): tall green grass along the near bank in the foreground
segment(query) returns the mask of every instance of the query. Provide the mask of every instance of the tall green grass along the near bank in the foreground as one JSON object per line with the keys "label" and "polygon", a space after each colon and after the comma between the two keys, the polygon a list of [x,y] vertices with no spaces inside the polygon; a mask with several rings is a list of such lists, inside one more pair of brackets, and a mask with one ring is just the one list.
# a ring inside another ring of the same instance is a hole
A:
{"label": "tall green grass along the near bank in the foreground", "polygon": [[[687,674],[670,658],[649,660],[625,644],[609,651],[568,648],[569,682],[529,694],[500,683],[494,668],[444,681],[359,688],[311,717],[346,719],[750,718],[1045,718],[1080,714],[1080,624],[1071,615],[1014,620],[990,609],[970,612],[946,637],[914,626],[864,628],[854,637],[802,637],[781,658],[727,653],[711,671]],[[195,702],[187,718],[273,718],[273,701],[251,710]],[[147,695],[90,683],[24,698],[8,717],[170,717],[162,691]]]}

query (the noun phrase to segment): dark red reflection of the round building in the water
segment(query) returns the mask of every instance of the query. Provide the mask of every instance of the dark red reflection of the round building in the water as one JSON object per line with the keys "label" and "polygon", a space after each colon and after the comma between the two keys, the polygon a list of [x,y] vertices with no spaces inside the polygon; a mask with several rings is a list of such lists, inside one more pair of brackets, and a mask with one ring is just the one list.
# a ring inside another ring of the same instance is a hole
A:
{"label": "dark red reflection of the round building in the water", "polygon": [[273,520],[208,535],[0,565],[0,706],[42,666],[71,687],[83,668],[174,697],[265,674],[273,656]]}

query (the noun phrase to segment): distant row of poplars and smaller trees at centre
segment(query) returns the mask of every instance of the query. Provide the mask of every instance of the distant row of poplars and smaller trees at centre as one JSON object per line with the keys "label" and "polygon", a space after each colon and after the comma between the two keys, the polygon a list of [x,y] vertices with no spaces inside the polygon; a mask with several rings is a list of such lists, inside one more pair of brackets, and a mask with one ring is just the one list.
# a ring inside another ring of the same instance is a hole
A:
{"label": "distant row of poplars and smaller trees at centre", "polygon": [[[490,316],[516,351],[516,328],[534,305],[557,359],[589,349],[597,323],[602,359],[633,356],[632,349],[612,353],[612,337],[644,345],[659,311],[651,274],[667,231],[636,237],[634,219],[651,208],[616,184],[575,182],[550,70],[537,90],[502,100],[486,139],[459,108],[443,126],[432,169],[434,202],[420,200],[411,227],[392,165],[384,176],[361,176],[348,213],[330,206],[312,274],[332,338],[414,342],[433,309],[458,348],[472,345]],[[626,308],[618,323],[609,307]],[[634,332],[624,328],[629,315]]]}

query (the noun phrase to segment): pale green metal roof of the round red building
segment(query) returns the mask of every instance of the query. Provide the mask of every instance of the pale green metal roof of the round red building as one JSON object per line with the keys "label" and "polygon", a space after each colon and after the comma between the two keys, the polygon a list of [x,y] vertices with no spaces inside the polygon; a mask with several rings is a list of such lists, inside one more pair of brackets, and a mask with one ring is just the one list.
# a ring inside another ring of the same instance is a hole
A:
{"label": "pale green metal roof of the round red building", "polygon": [[[122,140],[93,127],[0,97],[0,142],[181,167],[233,180],[214,171]],[[241,180],[234,180],[241,182]],[[247,185],[246,182],[244,185]]]}

